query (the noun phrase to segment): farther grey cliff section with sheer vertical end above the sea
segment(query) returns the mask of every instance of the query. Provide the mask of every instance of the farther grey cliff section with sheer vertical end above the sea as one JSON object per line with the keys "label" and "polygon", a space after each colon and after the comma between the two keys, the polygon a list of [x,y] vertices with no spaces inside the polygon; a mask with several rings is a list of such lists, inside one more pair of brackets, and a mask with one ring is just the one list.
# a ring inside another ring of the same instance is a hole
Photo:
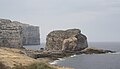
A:
{"label": "farther grey cliff section with sheer vertical end above the sea", "polygon": [[18,26],[22,27],[23,45],[40,45],[40,33],[38,26],[23,24],[13,21]]}

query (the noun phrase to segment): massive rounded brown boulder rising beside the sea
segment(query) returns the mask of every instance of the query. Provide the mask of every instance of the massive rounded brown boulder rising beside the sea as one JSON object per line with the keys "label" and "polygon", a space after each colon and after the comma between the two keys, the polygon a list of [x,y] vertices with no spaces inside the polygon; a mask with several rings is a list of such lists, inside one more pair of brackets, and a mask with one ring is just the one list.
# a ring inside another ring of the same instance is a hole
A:
{"label": "massive rounded brown boulder rising beside the sea", "polygon": [[68,29],[50,32],[45,48],[49,51],[80,51],[87,47],[87,37],[79,29]]}

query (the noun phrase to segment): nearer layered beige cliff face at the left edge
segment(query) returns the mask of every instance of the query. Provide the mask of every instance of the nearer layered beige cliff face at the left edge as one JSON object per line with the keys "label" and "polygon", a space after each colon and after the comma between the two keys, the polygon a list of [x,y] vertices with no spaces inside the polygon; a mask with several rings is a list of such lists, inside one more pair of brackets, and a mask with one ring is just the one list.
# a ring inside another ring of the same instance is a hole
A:
{"label": "nearer layered beige cliff face at the left edge", "polygon": [[22,47],[22,28],[10,20],[0,19],[0,46]]}

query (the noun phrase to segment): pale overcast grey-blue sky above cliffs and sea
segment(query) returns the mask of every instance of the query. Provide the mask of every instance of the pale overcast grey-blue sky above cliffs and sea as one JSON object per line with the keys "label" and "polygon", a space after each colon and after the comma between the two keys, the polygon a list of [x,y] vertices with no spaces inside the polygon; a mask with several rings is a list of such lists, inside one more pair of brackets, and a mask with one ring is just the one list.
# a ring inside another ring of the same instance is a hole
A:
{"label": "pale overcast grey-blue sky above cliffs and sea", "polygon": [[89,42],[120,42],[120,0],[0,0],[0,18],[53,30],[78,28]]}

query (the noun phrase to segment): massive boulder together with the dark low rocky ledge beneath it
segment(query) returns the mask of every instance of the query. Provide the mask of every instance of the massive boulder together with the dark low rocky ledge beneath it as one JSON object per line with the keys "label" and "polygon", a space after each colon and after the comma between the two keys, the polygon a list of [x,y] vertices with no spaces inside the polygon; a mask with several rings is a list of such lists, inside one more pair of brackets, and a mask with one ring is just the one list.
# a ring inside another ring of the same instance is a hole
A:
{"label": "massive boulder together with the dark low rocky ledge beneath it", "polygon": [[48,58],[58,60],[58,58],[69,57],[77,54],[104,54],[115,51],[97,48],[88,48],[87,37],[81,33],[80,29],[54,30],[46,38],[45,49],[33,51],[25,50],[25,54],[32,58]]}

